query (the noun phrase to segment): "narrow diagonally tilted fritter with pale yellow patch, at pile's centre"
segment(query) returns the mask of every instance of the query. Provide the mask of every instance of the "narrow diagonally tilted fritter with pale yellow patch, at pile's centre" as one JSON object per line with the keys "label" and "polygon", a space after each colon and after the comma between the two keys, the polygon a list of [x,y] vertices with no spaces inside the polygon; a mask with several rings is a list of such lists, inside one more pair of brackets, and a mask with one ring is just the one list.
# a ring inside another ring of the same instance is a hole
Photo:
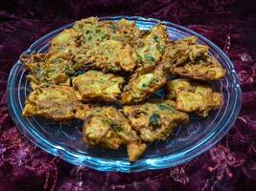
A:
{"label": "narrow diagonally tilted fritter with pale yellow patch, at pile's centre", "polygon": [[155,70],[146,74],[140,72],[131,76],[128,85],[125,86],[124,92],[121,95],[123,104],[137,103],[145,100],[154,92],[164,86],[167,80],[168,68],[165,63],[156,66]]}

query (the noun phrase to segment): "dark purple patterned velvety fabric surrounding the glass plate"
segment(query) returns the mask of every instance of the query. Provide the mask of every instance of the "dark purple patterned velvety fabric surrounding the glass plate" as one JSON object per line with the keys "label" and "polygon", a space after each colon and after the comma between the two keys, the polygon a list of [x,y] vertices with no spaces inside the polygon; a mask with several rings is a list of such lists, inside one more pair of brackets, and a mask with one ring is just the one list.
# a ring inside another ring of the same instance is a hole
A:
{"label": "dark purple patterned velvety fabric surrounding the glass plate", "polygon": [[[1,0],[0,190],[256,190],[256,3],[253,0]],[[91,15],[140,15],[199,32],[228,54],[239,73],[243,106],[234,127],[210,151],[185,164],[141,173],[103,173],[36,148],[8,113],[13,63],[38,37]]]}

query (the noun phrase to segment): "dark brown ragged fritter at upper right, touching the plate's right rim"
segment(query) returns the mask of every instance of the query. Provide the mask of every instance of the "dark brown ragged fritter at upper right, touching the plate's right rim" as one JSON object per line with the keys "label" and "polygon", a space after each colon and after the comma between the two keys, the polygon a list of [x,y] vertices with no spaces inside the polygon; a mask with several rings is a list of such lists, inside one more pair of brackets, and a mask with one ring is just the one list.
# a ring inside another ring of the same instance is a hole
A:
{"label": "dark brown ragged fritter at upper right, touching the plate's right rim", "polygon": [[189,36],[169,43],[163,59],[173,66],[172,74],[205,81],[220,79],[225,70],[208,52],[208,46],[198,45],[197,37]]}

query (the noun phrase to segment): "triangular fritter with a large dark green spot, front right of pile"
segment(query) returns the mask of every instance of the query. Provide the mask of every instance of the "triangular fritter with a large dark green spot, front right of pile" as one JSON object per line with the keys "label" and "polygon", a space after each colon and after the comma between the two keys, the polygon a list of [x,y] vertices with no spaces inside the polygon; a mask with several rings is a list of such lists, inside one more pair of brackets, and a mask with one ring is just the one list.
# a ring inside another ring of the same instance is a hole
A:
{"label": "triangular fritter with a large dark green spot, front right of pile", "polygon": [[186,113],[175,110],[175,101],[172,100],[124,106],[123,111],[131,127],[148,142],[168,138],[176,126],[189,121]]}

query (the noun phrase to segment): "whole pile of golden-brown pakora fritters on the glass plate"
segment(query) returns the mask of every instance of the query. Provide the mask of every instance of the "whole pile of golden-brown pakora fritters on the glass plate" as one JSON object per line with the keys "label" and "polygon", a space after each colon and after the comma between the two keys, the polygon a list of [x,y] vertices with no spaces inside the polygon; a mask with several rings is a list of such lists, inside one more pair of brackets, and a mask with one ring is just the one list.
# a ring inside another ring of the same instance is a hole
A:
{"label": "whole pile of golden-brown pakora fritters on the glass plate", "polygon": [[[188,123],[190,113],[207,117],[223,101],[206,83],[225,74],[209,47],[195,36],[170,40],[160,24],[143,31],[126,19],[82,19],[53,38],[47,53],[21,61],[32,88],[23,117],[79,119],[88,146],[126,145],[129,161]],[[163,88],[164,98],[151,99]]]}

